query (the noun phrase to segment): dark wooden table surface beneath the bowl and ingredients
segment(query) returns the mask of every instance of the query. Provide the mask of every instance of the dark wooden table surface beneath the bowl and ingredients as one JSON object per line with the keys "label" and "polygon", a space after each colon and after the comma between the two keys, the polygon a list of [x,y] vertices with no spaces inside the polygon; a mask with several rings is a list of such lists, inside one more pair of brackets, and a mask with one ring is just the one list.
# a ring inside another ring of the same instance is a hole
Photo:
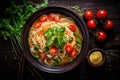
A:
{"label": "dark wooden table surface beneath the bowl and ingredients", "polygon": [[[110,33],[109,39],[106,43],[99,44],[90,34],[89,44],[89,50],[97,47],[105,52],[106,62],[101,67],[93,68],[89,66],[86,59],[84,59],[80,65],[67,73],[49,74],[37,70],[25,61],[22,79],[120,80],[120,2],[115,0],[49,0],[49,6],[53,5],[67,8],[77,5],[84,9],[91,9],[94,13],[99,9],[106,9],[108,11],[108,18],[114,22],[114,29]],[[0,37],[0,78],[3,80],[17,79],[20,63],[14,59],[14,55],[12,54],[10,41],[5,41]]]}

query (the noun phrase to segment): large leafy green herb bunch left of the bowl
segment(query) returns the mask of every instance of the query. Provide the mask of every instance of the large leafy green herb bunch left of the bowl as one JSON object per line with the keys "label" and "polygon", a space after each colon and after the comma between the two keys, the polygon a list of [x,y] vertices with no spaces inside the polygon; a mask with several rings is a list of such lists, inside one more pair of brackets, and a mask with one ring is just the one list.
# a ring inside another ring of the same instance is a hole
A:
{"label": "large leafy green herb bunch left of the bowl", "polygon": [[46,7],[48,0],[44,0],[43,3],[33,6],[28,0],[22,0],[20,4],[15,1],[11,1],[9,7],[7,7],[3,16],[0,16],[0,36],[5,40],[10,40],[13,51],[19,58],[21,53],[21,29],[25,24],[28,17],[36,10]]}

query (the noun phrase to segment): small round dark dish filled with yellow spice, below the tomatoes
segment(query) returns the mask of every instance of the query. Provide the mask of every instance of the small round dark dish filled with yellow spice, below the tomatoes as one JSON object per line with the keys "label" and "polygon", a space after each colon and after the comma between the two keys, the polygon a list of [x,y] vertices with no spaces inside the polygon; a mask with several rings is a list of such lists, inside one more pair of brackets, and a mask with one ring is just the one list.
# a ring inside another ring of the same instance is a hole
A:
{"label": "small round dark dish filled with yellow spice, below the tomatoes", "polygon": [[94,48],[88,52],[88,63],[93,67],[99,67],[105,62],[105,54],[99,48]]}

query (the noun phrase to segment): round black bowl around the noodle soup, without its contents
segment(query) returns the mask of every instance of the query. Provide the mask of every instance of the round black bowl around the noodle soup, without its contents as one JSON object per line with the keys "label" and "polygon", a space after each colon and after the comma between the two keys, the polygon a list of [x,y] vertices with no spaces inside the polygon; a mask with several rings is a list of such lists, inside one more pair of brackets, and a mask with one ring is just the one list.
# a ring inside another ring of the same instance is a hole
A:
{"label": "round black bowl around the noodle soup, without its contents", "polygon": [[[52,67],[52,66],[47,66],[45,64],[40,63],[39,61],[33,58],[29,49],[28,35],[33,22],[42,14],[49,14],[49,13],[59,13],[59,14],[71,17],[75,21],[79,29],[81,30],[81,33],[83,36],[81,52],[77,55],[77,57],[72,62],[65,64],[63,66]],[[89,45],[89,34],[84,21],[75,12],[64,7],[51,6],[51,7],[40,9],[34,12],[29,17],[29,19],[26,21],[25,26],[23,27],[23,30],[22,30],[21,42],[22,42],[22,48],[23,48],[25,57],[30,62],[30,64],[32,64],[39,70],[42,70],[48,73],[63,73],[75,68],[86,57],[88,45]]]}

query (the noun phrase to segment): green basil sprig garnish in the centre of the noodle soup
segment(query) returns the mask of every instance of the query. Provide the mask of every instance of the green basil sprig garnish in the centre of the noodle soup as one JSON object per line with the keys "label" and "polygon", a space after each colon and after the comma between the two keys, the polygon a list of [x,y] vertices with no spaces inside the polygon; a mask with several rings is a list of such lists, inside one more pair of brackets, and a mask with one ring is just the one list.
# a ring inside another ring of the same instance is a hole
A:
{"label": "green basil sprig garnish in the centre of the noodle soup", "polygon": [[62,49],[64,44],[67,42],[66,37],[64,36],[65,27],[56,27],[49,28],[44,36],[47,37],[46,45],[51,46],[55,44],[58,48]]}

